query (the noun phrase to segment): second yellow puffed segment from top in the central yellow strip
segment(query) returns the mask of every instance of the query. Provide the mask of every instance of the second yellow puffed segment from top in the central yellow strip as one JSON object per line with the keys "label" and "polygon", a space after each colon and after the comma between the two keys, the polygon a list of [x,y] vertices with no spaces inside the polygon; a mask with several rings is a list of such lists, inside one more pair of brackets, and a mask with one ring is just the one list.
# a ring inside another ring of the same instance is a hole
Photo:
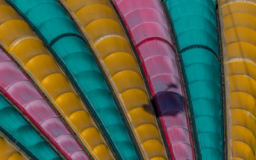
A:
{"label": "second yellow puffed segment from top in the central yellow strip", "polygon": [[[90,16],[84,16],[90,15]],[[76,17],[80,20],[83,26],[87,26],[93,20],[97,19],[113,19],[118,20],[115,12],[106,5],[103,4],[90,4],[84,6],[76,13]]]}

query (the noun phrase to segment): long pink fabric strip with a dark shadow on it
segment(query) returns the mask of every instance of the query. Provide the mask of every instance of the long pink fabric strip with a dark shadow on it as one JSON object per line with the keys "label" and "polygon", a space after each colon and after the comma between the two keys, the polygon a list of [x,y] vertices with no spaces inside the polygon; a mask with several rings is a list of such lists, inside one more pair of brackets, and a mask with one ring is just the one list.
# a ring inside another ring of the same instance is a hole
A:
{"label": "long pink fabric strip with a dark shadow on it", "polygon": [[195,159],[168,22],[158,0],[112,0],[138,51],[172,159]]}

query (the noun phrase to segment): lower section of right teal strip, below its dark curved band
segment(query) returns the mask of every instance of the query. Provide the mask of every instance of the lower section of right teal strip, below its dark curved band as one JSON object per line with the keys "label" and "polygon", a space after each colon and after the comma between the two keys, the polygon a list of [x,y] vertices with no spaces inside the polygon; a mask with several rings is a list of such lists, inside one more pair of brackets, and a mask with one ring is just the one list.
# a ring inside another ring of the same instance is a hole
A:
{"label": "lower section of right teal strip, below its dark curved band", "polygon": [[[220,67],[212,52],[182,53],[202,159],[222,159]],[[214,154],[211,154],[214,153]]]}

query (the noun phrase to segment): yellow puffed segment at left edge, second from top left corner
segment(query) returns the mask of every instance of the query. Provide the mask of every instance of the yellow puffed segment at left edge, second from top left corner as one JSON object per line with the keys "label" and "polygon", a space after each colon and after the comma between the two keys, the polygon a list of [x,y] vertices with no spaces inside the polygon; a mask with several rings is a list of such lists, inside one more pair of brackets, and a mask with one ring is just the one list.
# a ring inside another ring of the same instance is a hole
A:
{"label": "yellow puffed segment at left edge, second from top left corner", "polygon": [[3,14],[0,15],[0,24],[12,19],[21,20],[19,15],[13,12],[13,8],[10,6],[1,5],[0,3],[0,10],[3,11]]}

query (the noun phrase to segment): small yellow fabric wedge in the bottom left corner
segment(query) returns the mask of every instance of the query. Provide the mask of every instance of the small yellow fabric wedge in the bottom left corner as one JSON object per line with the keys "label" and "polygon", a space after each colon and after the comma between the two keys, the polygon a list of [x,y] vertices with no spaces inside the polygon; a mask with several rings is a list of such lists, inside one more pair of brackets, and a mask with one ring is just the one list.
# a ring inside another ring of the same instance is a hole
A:
{"label": "small yellow fabric wedge in the bottom left corner", "polygon": [[13,148],[13,146],[6,142],[6,140],[2,137],[0,137],[0,150],[0,159],[26,159],[22,156],[22,154],[19,153],[17,149]]}

